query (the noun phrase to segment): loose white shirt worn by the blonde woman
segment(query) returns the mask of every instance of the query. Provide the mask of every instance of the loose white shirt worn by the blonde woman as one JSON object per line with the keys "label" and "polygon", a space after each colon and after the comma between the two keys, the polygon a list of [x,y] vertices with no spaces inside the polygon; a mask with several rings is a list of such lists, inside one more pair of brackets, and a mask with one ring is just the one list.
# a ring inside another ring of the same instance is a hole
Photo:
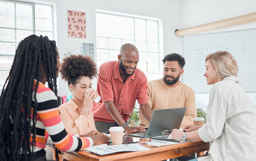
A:
{"label": "loose white shirt worn by the blonde woman", "polygon": [[256,160],[256,107],[235,76],[213,85],[206,121],[198,133],[210,142],[208,160]]}

